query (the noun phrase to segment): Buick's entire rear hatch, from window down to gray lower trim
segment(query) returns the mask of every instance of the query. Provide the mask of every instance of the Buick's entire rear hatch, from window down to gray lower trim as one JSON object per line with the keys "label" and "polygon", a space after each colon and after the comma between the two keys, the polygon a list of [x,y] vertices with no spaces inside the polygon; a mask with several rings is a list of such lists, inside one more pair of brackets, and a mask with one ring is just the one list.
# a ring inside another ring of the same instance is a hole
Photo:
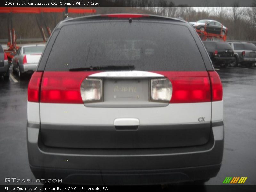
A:
{"label": "Buick's entire rear hatch, from window down to gray lower trim", "polygon": [[[215,72],[209,78],[187,24],[140,18],[68,22],[44,72],[31,79],[41,79],[46,146],[128,149],[208,142],[211,100],[222,100],[222,87]],[[34,93],[28,89],[28,101]]]}

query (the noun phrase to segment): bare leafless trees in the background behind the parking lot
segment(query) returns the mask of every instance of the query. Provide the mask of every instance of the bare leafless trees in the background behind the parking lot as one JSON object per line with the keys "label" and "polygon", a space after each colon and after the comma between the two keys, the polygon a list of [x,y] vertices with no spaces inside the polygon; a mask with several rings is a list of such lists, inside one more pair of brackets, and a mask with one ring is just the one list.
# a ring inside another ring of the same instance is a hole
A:
{"label": "bare leafless trees in the background behind the parking lot", "polygon": [[[187,5],[175,6],[170,0],[110,0],[113,7],[96,7],[96,14],[107,13],[144,13],[156,14],[167,17],[182,17],[184,20],[197,21],[201,19],[217,20],[228,28],[229,40],[256,41],[256,0],[251,7],[239,7],[239,2],[233,3],[232,7],[224,7],[225,4],[216,4],[209,7],[208,0],[202,0],[202,7],[194,8]],[[119,3],[119,4],[118,4]],[[116,6],[126,7],[116,7]],[[147,6],[145,6],[147,5]],[[69,14],[70,17],[85,16],[83,14]],[[7,39],[7,17],[8,14],[0,14],[0,39]],[[44,20],[47,25],[54,29],[56,23],[63,20],[61,13],[44,13]],[[13,14],[13,27],[17,38],[40,38],[40,31],[36,24],[35,14]],[[45,31],[46,33],[46,31]]]}

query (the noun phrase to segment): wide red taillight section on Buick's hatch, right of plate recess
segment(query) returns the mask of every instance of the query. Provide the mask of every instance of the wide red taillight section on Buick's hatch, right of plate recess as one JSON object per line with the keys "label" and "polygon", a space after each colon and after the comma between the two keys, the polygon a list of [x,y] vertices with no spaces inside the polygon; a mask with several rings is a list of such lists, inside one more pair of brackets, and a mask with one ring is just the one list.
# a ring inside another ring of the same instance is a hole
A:
{"label": "wide red taillight section on Buick's hatch, right of plate recess", "polygon": [[206,71],[156,73],[166,76],[172,83],[172,97],[170,103],[211,101],[211,86]]}

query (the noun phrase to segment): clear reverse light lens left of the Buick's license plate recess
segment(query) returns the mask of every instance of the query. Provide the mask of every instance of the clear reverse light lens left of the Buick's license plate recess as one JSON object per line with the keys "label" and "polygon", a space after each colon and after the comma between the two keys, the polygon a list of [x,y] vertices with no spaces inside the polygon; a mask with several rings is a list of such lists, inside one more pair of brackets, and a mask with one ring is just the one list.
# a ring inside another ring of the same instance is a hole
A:
{"label": "clear reverse light lens left of the Buick's license plate recess", "polygon": [[81,84],[81,96],[84,103],[102,101],[102,80],[84,79]]}

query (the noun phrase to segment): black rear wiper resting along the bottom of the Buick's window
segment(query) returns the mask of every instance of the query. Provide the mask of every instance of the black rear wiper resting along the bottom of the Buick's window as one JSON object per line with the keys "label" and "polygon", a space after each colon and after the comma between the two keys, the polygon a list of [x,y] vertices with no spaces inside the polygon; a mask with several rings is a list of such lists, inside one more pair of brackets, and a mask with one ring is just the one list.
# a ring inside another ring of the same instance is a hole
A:
{"label": "black rear wiper resting along the bottom of the Buick's window", "polygon": [[134,65],[106,65],[106,66],[90,66],[90,67],[81,67],[81,68],[71,68],[69,71],[99,71],[99,70],[134,70]]}

